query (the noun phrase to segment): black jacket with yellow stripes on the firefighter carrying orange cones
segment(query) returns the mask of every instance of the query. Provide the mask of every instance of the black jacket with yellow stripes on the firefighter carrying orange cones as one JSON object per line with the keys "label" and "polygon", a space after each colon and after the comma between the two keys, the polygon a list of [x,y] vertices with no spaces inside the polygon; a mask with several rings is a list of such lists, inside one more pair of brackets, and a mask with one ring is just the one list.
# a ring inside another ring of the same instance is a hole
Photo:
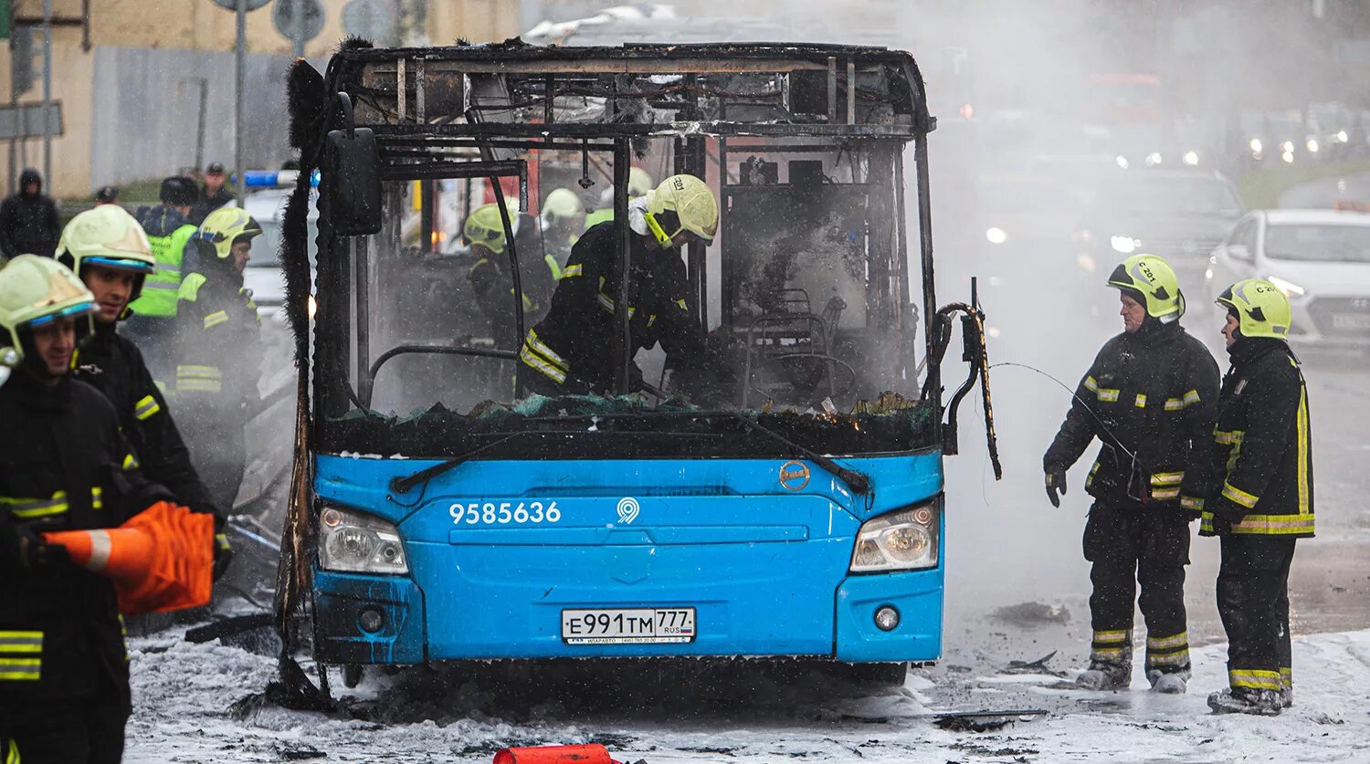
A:
{"label": "black jacket with yellow stripes on the firefighter carrying orange cones", "polygon": [[[137,468],[119,419],[99,390],[53,387],[16,371],[0,386],[0,538],[112,529],[171,496]],[[114,585],[70,563],[26,568],[0,545],[0,702],[129,697]],[[107,697],[107,696],[105,696]]]}

